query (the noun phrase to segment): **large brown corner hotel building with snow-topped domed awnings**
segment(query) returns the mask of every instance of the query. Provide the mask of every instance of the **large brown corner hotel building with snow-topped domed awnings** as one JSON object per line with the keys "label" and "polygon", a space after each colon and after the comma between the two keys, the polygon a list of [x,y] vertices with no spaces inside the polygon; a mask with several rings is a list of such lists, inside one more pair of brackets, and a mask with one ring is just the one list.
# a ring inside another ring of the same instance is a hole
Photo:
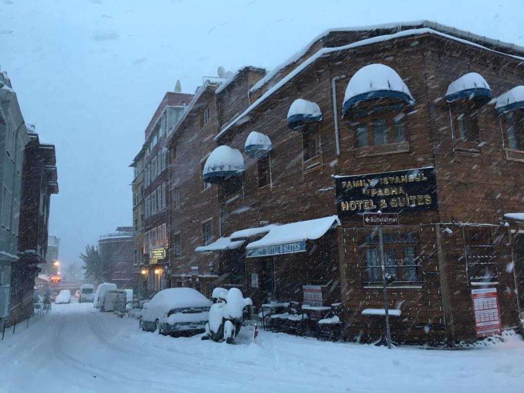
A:
{"label": "large brown corner hotel building with snow-topped domed awnings", "polygon": [[314,292],[343,304],[346,339],[374,340],[383,273],[363,213],[380,210],[399,214],[394,341],[521,329],[523,55],[420,21],[328,30],[267,75],[204,84],[168,136],[172,285],[257,306]]}

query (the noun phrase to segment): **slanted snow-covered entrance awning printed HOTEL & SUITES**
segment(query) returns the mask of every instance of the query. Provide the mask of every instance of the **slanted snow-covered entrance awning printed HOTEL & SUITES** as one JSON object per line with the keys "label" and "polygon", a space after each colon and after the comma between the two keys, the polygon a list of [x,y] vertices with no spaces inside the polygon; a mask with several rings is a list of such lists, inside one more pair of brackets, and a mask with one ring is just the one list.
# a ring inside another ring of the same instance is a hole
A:
{"label": "slanted snow-covered entrance awning printed HOTEL & SUITES", "polygon": [[246,246],[246,256],[249,258],[305,252],[305,241],[318,239],[338,225],[340,220],[336,215],[275,225],[266,236]]}

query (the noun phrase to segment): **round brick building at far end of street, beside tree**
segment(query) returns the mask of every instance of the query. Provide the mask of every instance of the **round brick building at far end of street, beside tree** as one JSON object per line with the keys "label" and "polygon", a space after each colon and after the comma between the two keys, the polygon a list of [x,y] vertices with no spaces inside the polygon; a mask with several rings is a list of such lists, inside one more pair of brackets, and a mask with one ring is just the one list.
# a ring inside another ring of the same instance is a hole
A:
{"label": "round brick building at far end of street, beside tree", "polygon": [[101,235],[98,246],[109,269],[107,282],[115,283],[119,289],[132,289],[133,227],[119,226],[115,232]]}

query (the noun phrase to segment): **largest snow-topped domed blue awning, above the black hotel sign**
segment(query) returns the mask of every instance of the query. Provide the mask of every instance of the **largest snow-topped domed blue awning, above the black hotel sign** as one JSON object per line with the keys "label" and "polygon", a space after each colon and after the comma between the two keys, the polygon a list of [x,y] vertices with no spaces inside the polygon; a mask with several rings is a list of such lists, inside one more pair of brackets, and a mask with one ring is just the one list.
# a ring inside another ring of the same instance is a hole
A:
{"label": "largest snow-topped domed blue awning, above the black hotel sign", "polygon": [[412,105],[415,101],[408,86],[399,74],[385,64],[369,64],[362,67],[347,84],[342,114],[362,101],[380,98],[400,99]]}

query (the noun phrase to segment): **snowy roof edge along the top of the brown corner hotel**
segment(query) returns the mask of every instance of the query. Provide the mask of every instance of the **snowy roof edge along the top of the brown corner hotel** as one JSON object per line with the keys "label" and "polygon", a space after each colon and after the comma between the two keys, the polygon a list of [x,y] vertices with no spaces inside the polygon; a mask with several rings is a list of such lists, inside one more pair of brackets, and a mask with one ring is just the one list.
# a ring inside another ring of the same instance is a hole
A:
{"label": "snowy roof edge along the top of the brown corner hotel", "polygon": [[[438,25],[438,24],[435,24],[433,22],[428,22],[428,23],[424,22],[423,24],[424,25],[428,25],[428,26]],[[378,27],[375,27],[375,28],[378,28]],[[449,28],[448,30],[452,34],[458,34],[457,31],[459,31],[459,30],[453,30],[452,28]],[[245,123],[244,117],[246,117],[258,105],[260,105],[261,103],[265,102],[268,99],[268,97],[270,97],[272,94],[274,94],[275,92],[280,90],[280,88],[282,88],[282,86],[284,86],[290,80],[295,78],[302,71],[307,69],[310,65],[312,65],[319,58],[324,57],[324,56],[326,56],[326,55],[328,55],[330,53],[336,53],[336,52],[340,52],[340,51],[344,51],[344,50],[348,50],[348,49],[363,47],[363,46],[366,46],[366,45],[373,45],[374,43],[378,43],[378,42],[390,41],[390,40],[395,40],[395,39],[403,38],[403,37],[421,36],[421,35],[424,35],[424,34],[431,34],[431,35],[434,35],[434,36],[443,37],[443,38],[446,38],[446,39],[449,39],[449,40],[453,40],[455,42],[461,42],[461,43],[464,43],[466,45],[470,45],[470,46],[475,47],[475,48],[480,48],[480,49],[483,49],[483,50],[487,50],[487,51],[492,52],[492,53],[499,53],[499,54],[503,54],[504,56],[508,56],[508,57],[511,57],[511,58],[514,58],[514,59],[524,60],[524,58],[522,58],[522,57],[514,56],[514,55],[508,54],[508,53],[499,52],[497,50],[490,49],[490,48],[487,48],[485,46],[479,45],[478,43],[475,43],[475,42],[472,42],[472,41],[468,41],[467,39],[457,38],[455,36],[451,36],[449,34],[445,34],[445,33],[441,32],[441,31],[437,31],[437,30],[434,30],[434,29],[429,28],[429,27],[423,27],[423,28],[418,28],[418,29],[410,29],[410,30],[402,30],[402,31],[396,32],[394,34],[387,34],[387,35],[383,35],[383,36],[366,38],[366,39],[363,39],[363,40],[360,40],[360,41],[352,42],[352,43],[350,43],[348,45],[344,45],[344,46],[341,46],[341,47],[322,48],[319,51],[317,51],[316,53],[314,53],[312,56],[310,56],[308,59],[304,60],[300,65],[298,65],[297,68],[293,69],[293,71],[291,71],[289,74],[287,74],[286,77],[284,77],[281,80],[279,80],[274,86],[271,87],[271,89],[269,89],[267,92],[265,92],[263,95],[261,95],[258,100],[256,100],[253,104],[249,105],[249,107],[244,112],[242,112],[241,114],[236,116],[234,119],[232,119],[231,122],[226,124],[220,130],[220,132],[214,137],[214,140],[219,139],[222,135],[224,135],[224,133],[227,132],[228,129],[230,129],[234,125],[244,124]],[[483,37],[480,37],[480,36],[472,35],[471,33],[461,34],[461,36],[466,37],[466,38],[471,37],[471,39],[475,39],[475,40],[478,40],[478,41],[482,41],[482,38],[483,38]],[[489,42],[491,45],[506,46],[506,47],[514,49],[514,50],[524,51],[524,49],[522,49],[520,47],[517,47],[515,45],[512,45],[512,44],[511,45],[509,45],[509,44],[503,45],[503,43],[501,43],[499,41],[485,39],[485,37],[484,37],[484,40],[487,40],[487,42]],[[266,78],[268,78],[269,75],[270,74],[268,74]],[[264,78],[264,80],[266,80],[266,82],[267,82],[267,80],[269,80],[269,79],[266,79],[266,78]]]}

